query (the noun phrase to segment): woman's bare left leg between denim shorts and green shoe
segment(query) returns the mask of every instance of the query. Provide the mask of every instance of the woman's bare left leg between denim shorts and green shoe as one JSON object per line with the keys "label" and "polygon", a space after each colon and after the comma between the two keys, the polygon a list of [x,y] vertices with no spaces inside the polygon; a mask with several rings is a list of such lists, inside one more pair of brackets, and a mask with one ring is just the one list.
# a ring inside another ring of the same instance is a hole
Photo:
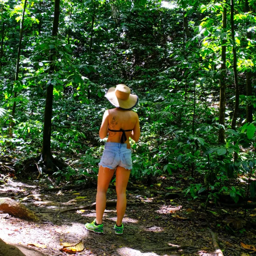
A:
{"label": "woman's bare left leg between denim shorts and green shoe", "polygon": [[96,195],[96,223],[102,224],[102,217],[106,208],[106,192],[113,177],[114,169],[100,166],[98,173],[98,185]]}

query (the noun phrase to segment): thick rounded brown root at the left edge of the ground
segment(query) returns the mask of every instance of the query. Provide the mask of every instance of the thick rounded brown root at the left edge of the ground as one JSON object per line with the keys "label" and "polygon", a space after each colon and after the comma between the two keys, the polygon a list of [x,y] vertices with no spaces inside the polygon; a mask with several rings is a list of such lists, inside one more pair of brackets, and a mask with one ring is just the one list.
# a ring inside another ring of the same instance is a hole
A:
{"label": "thick rounded brown root at the left edge of the ground", "polygon": [[39,221],[38,217],[31,210],[8,197],[0,198],[0,210],[17,218]]}

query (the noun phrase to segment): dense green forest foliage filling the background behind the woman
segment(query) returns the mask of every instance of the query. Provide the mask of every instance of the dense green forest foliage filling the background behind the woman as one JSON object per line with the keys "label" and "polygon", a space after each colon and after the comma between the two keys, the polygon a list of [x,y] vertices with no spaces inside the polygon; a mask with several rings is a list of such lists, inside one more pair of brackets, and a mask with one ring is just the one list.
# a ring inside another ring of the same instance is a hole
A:
{"label": "dense green forest foliage filling the background behind the woman", "polygon": [[[141,139],[132,144],[132,176],[171,176],[186,170],[196,198],[204,190],[217,197],[246,197],[238,177],[250,183],[255,196],[255,60],[256,1],[235,1],[235,42],[231,36],[230,3],[216,1],[86,0],[60,3],[57,38],[51,36],[54,5],[27,3],[19,80],[14,82],[23,1],[2,0],[0,27],[0,154],[16,165],[36,157],[42,148],[46,87],[54,86],[52,153],[80,165],[55,173],[86,182],[96,176],[104,141],[98,130],[107,88],[128,85],[140,102]],[[227,8],[227,29],[222,11]],[[4,24],[4,25],[3,25]],[[4,29],[4,30],[3,30]],[[219,124],[222,40],[226,40],[226,126]],[[236,130],[231,129],[235,89],[232,46],[238,56],[240,104]],[[55,70],[49,73],[54,50]],[[246,95],[250,72],[253,93]],[[10,113],[17,92],[12,137]],[[253,122],[246,121],[252,105]],[[226,144],[218,145],[225,129]],[[19,166],[22,172],[22,166]]]}

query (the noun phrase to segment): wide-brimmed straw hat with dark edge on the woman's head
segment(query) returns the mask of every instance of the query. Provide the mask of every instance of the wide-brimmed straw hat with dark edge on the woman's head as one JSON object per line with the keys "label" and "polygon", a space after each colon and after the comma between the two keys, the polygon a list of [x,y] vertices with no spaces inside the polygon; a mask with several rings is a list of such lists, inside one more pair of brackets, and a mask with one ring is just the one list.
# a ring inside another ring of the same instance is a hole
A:
{"label": "wide-brimmed straw hat with dark edge on the woman's head", "polygon": [[110,87],[105,94],[105,97],[116,108],[130,110],[134,108],[139,98],[135,94],[130,94],[131,89],[125,84],[118,84],[116,88]]}

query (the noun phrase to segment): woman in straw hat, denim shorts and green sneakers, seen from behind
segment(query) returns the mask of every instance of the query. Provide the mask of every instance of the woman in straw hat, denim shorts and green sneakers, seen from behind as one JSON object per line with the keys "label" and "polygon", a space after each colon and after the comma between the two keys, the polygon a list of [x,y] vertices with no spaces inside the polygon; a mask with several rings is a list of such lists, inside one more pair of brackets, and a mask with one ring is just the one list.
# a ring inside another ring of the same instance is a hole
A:
{"label": "woman in straw hat, denim shorts and green sneakers, seen from behind", "polygon": [[140,124],[137,113],[130,111],[138,103],[138,96],[130,94],[130,88],[118,84],[109,88],[105,97],[116,108],[106,110],[100,126],[100,138],[108,134],[108,140],[99,163],[98,187],[96,195],[96,219],[86,223],[85,228],[95,233],[103,233],[102,217],[106,208],[106,192],[116,169],[116,212],[115,234],[122,235],[122,219],[126,210],[126,186],[132,169],[132,152],[129,138],[138,141]]}

